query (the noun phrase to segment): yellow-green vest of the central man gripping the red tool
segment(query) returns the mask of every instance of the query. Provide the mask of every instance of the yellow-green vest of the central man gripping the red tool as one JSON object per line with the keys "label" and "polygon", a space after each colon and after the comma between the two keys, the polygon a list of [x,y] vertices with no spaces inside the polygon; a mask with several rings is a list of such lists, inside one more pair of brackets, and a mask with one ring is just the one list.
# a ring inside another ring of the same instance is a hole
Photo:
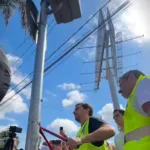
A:
{"label": "yellow-green vest of the central man gripping the red tool", "polygon": [[[80,128],[77,137],[84,137],[89,134],[89,119]],[[91,143],[82,144],[77,150],[106,150],[106,142],[100,147],[94,146]]]}

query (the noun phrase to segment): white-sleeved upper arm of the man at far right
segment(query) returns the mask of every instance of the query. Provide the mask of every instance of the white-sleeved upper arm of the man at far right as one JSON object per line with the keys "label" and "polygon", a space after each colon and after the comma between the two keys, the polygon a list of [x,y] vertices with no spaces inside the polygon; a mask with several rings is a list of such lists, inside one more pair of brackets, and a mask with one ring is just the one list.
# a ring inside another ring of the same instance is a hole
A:
{"label": "white-sleeved upper arm of the man at far right", "polygon": [[150,117],[150,79],[145,78],[140,81],[136,90],[139,106]]}

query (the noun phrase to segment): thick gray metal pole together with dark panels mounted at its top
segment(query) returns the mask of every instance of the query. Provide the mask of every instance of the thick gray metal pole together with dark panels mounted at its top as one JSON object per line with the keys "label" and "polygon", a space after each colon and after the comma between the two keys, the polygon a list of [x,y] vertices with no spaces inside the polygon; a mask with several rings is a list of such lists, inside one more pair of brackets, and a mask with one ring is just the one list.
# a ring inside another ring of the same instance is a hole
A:
{"label": "thick gray metal pole together with dark panels mounted at its top", "polygon": [[[34,22],[36,27],[37,22],[37,8],[32,2],[28,0],[31,8],[34,8],[35,11],[32,12],[31,24]],[[48,7],[51,6],[51,10]],[[46,43],[47,43],[47,18],[48,15],[54,13],[55,20],[58,24],[68,23],[74,19],[81,17],[80,3],[79,0],[42,0],[41,1],[41,11],[40,11],[40,20],[38,26],[38,36],[37,36],[37,49],[35,57],[35,67],[34,67],[34,76],[32,83],[32,92],[31,92],[31,101],[29,109],[29,119],[28,119],[28,129],[26,136],[26,146],[25,150],[38,150],[39,145],[39,130],[40,130],[40,113],[41,113],[41,100],[42,100],[42,89],[43,89],[43,75],[44,75],[44,61],[45,61],[45,52],[46,52]],[[28,13],[30,15],[30,13]],[[29,20],[31,16],[29,16]],[[32,29],[35,29],[32,27]],[[32,30],[30,30],[32,31]],[[32,33],[32,32],[31,32]],[[33,37],[35,37],[33,32]]]}

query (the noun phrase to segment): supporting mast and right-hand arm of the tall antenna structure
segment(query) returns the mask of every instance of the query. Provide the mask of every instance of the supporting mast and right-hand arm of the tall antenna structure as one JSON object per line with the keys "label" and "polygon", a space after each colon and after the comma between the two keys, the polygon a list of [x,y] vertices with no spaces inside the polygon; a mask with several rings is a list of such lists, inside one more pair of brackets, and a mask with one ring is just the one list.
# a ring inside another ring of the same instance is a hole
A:
{"label": "supporting mast and right-hand arm of the tall antenna structure", "polygon": [[[110,12],[109,9],[107,8],[107,18],[110,18]],[[106,46],[106,77],[109,83],[109,88],[110,88],[110,93],[111,93],[111,97],[112,97],[112,102],[113,102],[113,106],[114,109],[119,109],[119,101],[118,101],[118,95],[117,95],[117,90],[116,90],[116,84],[115,84],[115,80],[114,77],[117,81],[117,76],[118,76],[118,72],[117,72],[117,55],[116,55],[116,37],[115,37],[115,29],[114,29],[114,25],[111,19],[108,20],[108,40],[110,40],[110,50],[111,50],[111,62],[112,62],[112,67],[113,69],[111,70],[110,68],[110,63],[108,60],[109,57],[109,44],[107,43]],[[114,74],[114,76],[113,76]]]}

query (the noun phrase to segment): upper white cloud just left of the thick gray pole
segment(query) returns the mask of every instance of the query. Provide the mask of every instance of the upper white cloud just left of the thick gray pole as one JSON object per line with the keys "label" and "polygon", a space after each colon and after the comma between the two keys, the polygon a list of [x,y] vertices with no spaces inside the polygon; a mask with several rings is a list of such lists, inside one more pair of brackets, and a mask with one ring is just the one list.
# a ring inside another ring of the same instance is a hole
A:
{"label": "upper white cloud just left of the thick gray pole", "polygon": [[[14,56],[14,55],[10,55],[8,54],[7,55],[8,57],[8,60],[9,60],[9,64],[10,64],[10,68],[11,68],[11,73],[14,74],[12,75],[12,78],[11,78],[11,82],[12,84],[15,86],[15,85],[18,85],[17,86],[17,89],[20,90],[22,89],[27,83],[29,83],[30,79],[29,77],[26,78],[27,75],[21,73],[17,68],[19,65],[22,64],[22,59],[19,59],[18,56]],[[25,79],[26,78],[26,79]],[[20,84],[20,82],[22,81],[22,83]],[[26,87],[24,90],[22,90],[20,92],[21,94],[23,94],[26,98],[30,98],[30,95],[31,95],[31,86],[28,86]]]}

